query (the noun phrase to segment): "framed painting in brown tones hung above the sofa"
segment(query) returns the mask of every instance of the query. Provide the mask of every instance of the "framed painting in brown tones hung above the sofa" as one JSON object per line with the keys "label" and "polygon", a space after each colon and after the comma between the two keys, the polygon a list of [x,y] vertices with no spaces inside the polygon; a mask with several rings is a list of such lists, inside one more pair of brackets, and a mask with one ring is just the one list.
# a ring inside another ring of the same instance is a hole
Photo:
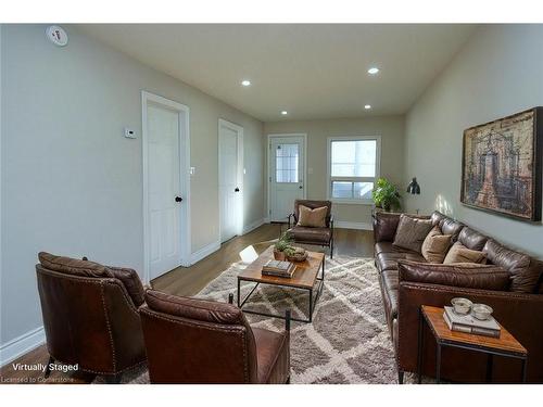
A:
{"label": "framed painting in brown tones hung above the sofa", "polygon": [[464,131],[460,202],[528,221],[541,220],[543,107]]}

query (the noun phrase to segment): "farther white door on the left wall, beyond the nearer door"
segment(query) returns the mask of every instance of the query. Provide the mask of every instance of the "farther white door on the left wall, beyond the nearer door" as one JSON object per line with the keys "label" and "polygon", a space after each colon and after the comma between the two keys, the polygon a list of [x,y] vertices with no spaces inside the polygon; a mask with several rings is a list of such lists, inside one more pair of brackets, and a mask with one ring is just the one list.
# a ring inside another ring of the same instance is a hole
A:
{"label": "farther white door on the left wall, beyond the nearer door", "polygon": [[241,233],[242,129],[219,122],[220,242]]}

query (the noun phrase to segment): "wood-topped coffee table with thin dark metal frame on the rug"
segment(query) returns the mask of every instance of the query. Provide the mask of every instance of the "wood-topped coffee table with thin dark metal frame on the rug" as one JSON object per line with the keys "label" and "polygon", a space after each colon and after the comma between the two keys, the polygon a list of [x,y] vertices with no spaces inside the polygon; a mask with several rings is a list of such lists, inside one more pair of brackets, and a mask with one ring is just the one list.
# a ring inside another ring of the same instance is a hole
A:
{"label": "wood-topped coffee table with thin dark metal frame on the rug", "polygon": [[[238,275],[238,307],[243,310],[243,313],[285,319],[286,317],[282,315],[258,313],[252,309],[243,309],[243,305],[248,302],[254,290],[256,290],[260,284],[279,285],[285,288],[304,290],[310,294],[310,317],[307,319],[291,319],[299,322],[311,322],[313,320],[313,311],[315,310],[315,305],[317,304],[318,297],[323,292],[323,285],[325,283],[325,254],[307,252],[307,259],[305,259],[304,262],[294,263],[296,265],[296,269],[294,270],[294,274],[291,278],[263,276],[262,266],[270,259],[274,259],[274,246],[269,246],[268,249],[266,249],[258,256],[258,258],[256,258]],[[321,270],[320,276],[318,276],[319,270]],[[242,281],[256,283],[243,300],[241,300],[240,290]]]}

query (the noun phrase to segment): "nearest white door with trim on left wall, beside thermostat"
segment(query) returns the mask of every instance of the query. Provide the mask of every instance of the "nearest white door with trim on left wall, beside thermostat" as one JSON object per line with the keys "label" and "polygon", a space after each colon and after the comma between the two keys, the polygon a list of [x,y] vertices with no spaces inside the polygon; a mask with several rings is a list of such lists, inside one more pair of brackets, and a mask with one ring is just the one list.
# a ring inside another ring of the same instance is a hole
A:
{"label": "nearest white door with trim on left wall, beside thermostat", "polygon": [[190,256],[189,107],[143,91],[143,268],[149,282]]}

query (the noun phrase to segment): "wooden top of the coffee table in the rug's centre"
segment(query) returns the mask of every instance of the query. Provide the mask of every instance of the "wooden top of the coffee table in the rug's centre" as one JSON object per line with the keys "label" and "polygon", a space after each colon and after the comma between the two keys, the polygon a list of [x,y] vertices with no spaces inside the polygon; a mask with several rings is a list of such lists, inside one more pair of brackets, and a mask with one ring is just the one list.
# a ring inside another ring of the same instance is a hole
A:
{"label": "wooden top of the coffee table in the rug's centre", "polygon": [[238,275],[238,280],[294,287],[299,289],[312,289],[317,280],[318,270],[323,267],[325,254],[307,252],[307,258],[304,262],[294,262],[296,269],[292,278],[263,276],[262,266],[270,259],[274,259],[274,246],[269,246],[262,252],[258,258]]}

